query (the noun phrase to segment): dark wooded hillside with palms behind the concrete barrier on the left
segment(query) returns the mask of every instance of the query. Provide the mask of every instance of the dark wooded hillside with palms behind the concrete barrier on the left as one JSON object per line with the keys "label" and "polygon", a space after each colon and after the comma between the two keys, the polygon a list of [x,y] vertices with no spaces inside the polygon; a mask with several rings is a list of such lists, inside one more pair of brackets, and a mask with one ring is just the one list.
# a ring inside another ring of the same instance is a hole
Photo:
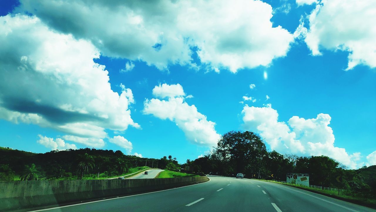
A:
{"label": "dark wooded hillside with palms behind the concrete barrier on the left", "polygon": [[121,151],[89,148],[35,154],[0,147],[0,181],[101,180],[149,167],[179,170],[180,164],[171,155],[139,158]]}

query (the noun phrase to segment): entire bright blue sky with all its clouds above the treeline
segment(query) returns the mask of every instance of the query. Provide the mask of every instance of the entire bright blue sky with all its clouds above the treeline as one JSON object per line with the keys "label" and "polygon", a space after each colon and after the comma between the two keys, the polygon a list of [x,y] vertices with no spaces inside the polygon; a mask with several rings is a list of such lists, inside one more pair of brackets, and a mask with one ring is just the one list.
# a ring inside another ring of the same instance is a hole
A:
{"label": "entire bright blue sky with all its clouds above the treeline", "polygon": [[202,157],[226,132],[376,164],[376,2],[0,3],[0,146]]}

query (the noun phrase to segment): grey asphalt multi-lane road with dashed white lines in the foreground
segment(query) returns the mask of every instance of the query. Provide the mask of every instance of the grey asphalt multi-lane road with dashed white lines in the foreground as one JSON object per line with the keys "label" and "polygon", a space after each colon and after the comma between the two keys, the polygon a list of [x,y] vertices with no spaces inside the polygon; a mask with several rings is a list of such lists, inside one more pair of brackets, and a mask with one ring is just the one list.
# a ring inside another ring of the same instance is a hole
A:
{"label": "grey asphalt multi-lane road with dashed white lines in the foreground", "polygon": [[281,184],[229,177],[209,178],[211,180],[206,183],[48,211],[376,212],[368,207]]}

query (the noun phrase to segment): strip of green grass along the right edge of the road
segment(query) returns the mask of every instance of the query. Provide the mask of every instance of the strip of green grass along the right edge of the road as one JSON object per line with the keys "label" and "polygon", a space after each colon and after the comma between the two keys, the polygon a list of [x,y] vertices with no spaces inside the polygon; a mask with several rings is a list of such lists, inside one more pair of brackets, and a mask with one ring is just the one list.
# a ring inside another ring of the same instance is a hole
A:
{"label": "strip of green grass along the right edge of the road", "polygon": [[[258,179],[254,179],[254,180],[258,180]],[[334,190],[323,190],[323,189],[312,188],[312,187],[303,186],[303,185],[295,185],[295,184],[291,184],[291,183],[281,183],[281,182],[277,182],[277,181],[273,181],[273,180],[261,180],[261,181],[284,184],[284,185],[287,185],[287,186],[292,186],[292,187],[296,187],[296,188],[300,188],[300,189],[304,189],[304,190],[309,190],[309,191],[317,193],[317,194],[323,194],[323,195],[333,197],[333,198],[337,198],[337,199],[340,199],[340,200],[349,201],[349,202],[361,204],[361,205],[364,205],[364,206],[367,206],[367,207],[376,208],[376,200],[375,199],[366,198],[366,197],[359,197],[359,196],[351,194],[351,192],[349,192],[349,191],[344,191],[344,192],[340,191],[339,194],[338,194],[338,191],[334,191]]]}

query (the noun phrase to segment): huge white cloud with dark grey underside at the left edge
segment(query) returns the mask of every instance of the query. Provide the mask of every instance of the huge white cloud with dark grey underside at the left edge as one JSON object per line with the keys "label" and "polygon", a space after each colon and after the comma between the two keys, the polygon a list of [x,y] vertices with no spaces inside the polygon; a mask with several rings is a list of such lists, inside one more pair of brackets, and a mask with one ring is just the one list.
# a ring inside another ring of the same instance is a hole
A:
{"label": "huge white cloud with dark grey underside at the left edge", "polygon": [[105,129],[139,127],[128,108],[132,91],[111,90],[91,42],[52,31],[37,17],[6,15],[0,43],[0,118],[96,138],[97,146]]}

